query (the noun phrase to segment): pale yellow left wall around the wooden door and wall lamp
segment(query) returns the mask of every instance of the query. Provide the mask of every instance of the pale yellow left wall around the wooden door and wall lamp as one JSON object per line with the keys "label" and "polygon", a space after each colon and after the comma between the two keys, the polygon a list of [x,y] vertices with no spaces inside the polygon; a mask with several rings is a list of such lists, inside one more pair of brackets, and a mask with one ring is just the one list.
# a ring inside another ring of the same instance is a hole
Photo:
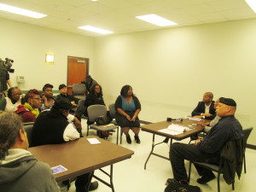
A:
{"label": "pale yellow left wall around the wooden door and wall lamp", "polygon": [[[15,61],[10,79],[16,85],[16,76],[23,75],[21,90],[42,90],[46,83],[58,90],[59,84],[67,84],[67,55],[89,58],[93,68],[94,38],[1,18],[0,24],[0,58]],[[46,53],[55,55],[52,66],[45,64]]]}

